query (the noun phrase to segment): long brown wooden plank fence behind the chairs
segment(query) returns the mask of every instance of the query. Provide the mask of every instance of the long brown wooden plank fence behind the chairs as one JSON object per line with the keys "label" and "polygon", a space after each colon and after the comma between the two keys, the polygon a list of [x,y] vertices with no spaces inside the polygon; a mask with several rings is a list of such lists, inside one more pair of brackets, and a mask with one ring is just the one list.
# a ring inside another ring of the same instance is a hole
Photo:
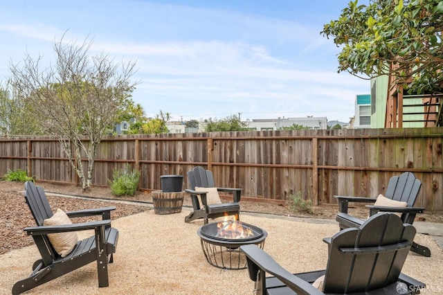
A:
{"label": "long brown wooden plank fence behind the chairs", "polygon": [[[129,163],[141,171],[140,190],[161,189],[161,175],[184,175],[188,188],[186,172],[204,166],[217,186],[243,188],[242,199],[300,194],[336,204],[333,195],[377,197],[390,177],[412,171],[422,181],[416,206],[442,211],[442,136],[442,127],[106,136],[93,184],[108,186],[113,170]],[[0,175],[17,169],[39,181],[78,183],[54,137],[1,138]]]}

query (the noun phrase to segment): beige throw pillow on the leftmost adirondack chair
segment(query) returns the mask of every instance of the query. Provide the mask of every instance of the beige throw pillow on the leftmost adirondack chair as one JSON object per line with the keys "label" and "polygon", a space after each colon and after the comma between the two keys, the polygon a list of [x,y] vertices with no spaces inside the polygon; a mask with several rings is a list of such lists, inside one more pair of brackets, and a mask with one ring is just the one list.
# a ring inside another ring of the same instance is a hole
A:
{"label": "beige throw pillow on the leftmost adirondack chair", "polygon": [[[57,209],[57,212],[51,217],[43,221],[43,225],[64,225],[72,224],[68,215],[62,211],[62,209]],[[60,256],[65,257],[71,253],[74,249],[75,244],[78,242],[78,235],[75,231],[69,231],[66,233],[49,233],[49,241],[53,245],[55,251],[60,254]]]}

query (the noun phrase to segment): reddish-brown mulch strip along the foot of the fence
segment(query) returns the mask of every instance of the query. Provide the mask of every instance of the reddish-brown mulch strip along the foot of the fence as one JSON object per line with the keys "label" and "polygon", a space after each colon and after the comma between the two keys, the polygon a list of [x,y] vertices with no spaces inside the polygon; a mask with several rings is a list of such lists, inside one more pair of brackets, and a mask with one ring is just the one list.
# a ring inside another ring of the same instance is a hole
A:
{"label": "reddish-brown mulch strip along the foot of the fence", "polygon": [[[73,199],[68,197],[56,197],[51,193],[63,194],[63,195],[75,195],[91,198],[105,198],[111,200],[129,200],[146,202],[148,206],[135,206],[131,204],[118,204],[116,211],[113,211],[112,219],[118,219],[127,215],[133,215],[152,209],[152,195],[148,193],[136,193],[134,197],[115,197],[111,194],[109,188],[94,187],[91,192],[82,193],[81,188],[69,185],[60,184],[37,184],[42,186],[48,195],[48,201],[51,204],[53,210],[62,208],[65,211],[74,211],[87,208],[97,208],[102,206],[116,206],[114,203],[106,201],[91,201],[84,199]],[[2,210],[0,211],[0,255],[10,251],[12,249],[19,249],[21,247],[33,244],[33,239],[27,236],[23,229],[26,226],[34,226],[33,217],[26,205],[23,197],[24,184],[20,182],[0,181],[0,204],[2,204]],[[183,206],[192,206],[190,198],[185,197]],[[324,205],[313,207],[313,213],[294,213],[288,206],[282,206],[278,204],[259,203],[259,202],[242,202],[242,211],[255,212],[255,213],[269,213],[273,215],[284,215],[294,217],[315,217],[334,220],[335,215],[338,212],[337,206]],[[365,218],[368,216],[368,209],[362,206],[356,206],[350,208],[350,213],[356,217]],[[100,217],[96,217],[100,218]],[[428,213],[417,217],[420,221],[428,222],[443,222],[443,214],[440,213]],[[86,221],[86,218],[78,218],[76,222]],[[89,218],[88,220],[91,220]]]}

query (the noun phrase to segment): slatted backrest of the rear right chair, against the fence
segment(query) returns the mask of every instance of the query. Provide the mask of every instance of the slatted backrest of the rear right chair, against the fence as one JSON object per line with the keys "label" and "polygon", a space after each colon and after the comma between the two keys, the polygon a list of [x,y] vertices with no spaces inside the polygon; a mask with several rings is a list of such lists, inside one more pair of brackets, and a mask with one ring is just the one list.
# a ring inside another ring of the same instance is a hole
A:
{"label": "slatted backrest of the rear right chair, against the fence", "polygon": [[385,197],[406,202],[408,207],[413,207],[421,186],[422,182],[412,172],[404,172],[389,179]]}

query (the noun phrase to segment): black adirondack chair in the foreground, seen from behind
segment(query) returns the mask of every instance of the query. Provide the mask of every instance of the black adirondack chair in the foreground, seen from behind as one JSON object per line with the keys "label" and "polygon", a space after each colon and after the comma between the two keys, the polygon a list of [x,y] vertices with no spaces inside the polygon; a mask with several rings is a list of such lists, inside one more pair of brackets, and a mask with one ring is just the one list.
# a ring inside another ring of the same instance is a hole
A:
{"label": "black adirondack chair in the foreground, seen from behind", "polygon": [[[240,249],[258,295],[419,294],[425,284],[401,274],[414,236],[414,226],[404,224],[397,215],[377,213],[359,229],[345,229],[323,239],[329,250],[326,269],[301,274],[291,274],[256,245]],[[311,285],[320,276],[324,276],[323,292]]]}

